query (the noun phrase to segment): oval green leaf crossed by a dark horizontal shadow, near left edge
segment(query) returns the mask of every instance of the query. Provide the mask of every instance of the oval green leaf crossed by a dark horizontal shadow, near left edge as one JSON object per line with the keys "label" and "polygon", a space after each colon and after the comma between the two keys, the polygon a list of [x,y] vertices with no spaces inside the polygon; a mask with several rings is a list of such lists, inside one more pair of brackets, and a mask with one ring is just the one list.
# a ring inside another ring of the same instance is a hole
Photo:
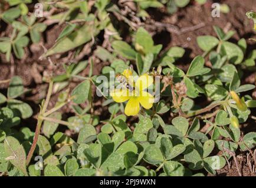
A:
{"label": "oval green leaf crossed by a dark horizontal shadow, near left edge", "polygon": [[17,98],[24,93],[22,79],[19,76],[12,77],[7,92],[8,98]]}

